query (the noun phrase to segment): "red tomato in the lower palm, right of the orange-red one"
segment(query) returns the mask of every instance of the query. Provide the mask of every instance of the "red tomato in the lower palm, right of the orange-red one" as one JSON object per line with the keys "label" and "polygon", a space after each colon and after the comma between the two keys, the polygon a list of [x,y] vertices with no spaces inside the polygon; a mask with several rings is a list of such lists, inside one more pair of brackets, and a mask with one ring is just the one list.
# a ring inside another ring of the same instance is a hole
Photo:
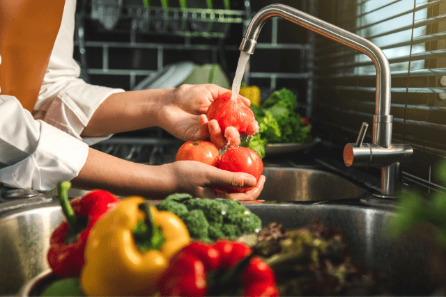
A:
{"label": "red tomato in the lower palm, right of the orange-red one", "polygon": [[[261,157],[249,147],[231,147],[229,150],[226,150],[220,158],[220,165],[218,168],[231,172],[249,173],[257,179],[257,182],[259,182],[259,178],[263,172],[263,162]],[[243,193],[252,188],[221,186],[219,189],[228,193]]]}

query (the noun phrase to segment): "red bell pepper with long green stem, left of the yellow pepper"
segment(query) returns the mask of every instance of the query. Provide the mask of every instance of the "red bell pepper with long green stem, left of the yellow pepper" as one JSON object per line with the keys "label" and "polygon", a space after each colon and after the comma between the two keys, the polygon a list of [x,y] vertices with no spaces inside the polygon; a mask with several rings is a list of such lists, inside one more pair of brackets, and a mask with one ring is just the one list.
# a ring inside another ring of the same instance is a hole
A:
{"label": "red bell pepper with long green stem, left of the yellow pepper", "polygon": [[47,260],[59,278],[79,277],[84,266],[84,250],[91,227],[120,201],[107,191],[91,191],[68,201],[70,182],[59,184],[59,201],[66,220],[49,239]]}

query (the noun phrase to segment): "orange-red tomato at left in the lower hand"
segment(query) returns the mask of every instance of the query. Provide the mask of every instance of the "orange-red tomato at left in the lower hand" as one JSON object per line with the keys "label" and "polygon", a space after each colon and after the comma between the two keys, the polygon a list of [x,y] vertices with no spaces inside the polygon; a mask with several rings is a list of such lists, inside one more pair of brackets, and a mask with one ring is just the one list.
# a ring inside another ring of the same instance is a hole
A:
{"label": "orange-red tomato at left in the lower hand", "polygon": [[220,154],[213,143],[208,141],[187,141],[176,152],[175,161],[199,161],[211,166],[218,166]]}

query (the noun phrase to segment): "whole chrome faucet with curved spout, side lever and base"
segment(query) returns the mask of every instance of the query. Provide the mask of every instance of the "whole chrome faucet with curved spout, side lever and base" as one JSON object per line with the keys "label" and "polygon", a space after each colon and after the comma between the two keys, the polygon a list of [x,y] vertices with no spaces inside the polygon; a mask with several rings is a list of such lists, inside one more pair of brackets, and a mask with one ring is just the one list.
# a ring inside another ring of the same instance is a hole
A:
{"label": "whole chrome faucet with curved spout, side lever and base", "polygon": [[392,143],[392,115],[390,115],[390,65],[383,51],[369,40],[303,13],[284,4],[271,4],[259,10],[247,28],[240,51],[254,54],[257,38],[265,22],[271,17],[283,17],[348,47],[361,51],[371,58],[376,67],[376,106],[373,126],[373,143],[362,143],[367,123],[362,125],[356,143],[344,148],[346,166],[381,167],[380,193],[374,195],[391,198],[401,186],[401,163],[410,161],[413,149],[407,144]]}

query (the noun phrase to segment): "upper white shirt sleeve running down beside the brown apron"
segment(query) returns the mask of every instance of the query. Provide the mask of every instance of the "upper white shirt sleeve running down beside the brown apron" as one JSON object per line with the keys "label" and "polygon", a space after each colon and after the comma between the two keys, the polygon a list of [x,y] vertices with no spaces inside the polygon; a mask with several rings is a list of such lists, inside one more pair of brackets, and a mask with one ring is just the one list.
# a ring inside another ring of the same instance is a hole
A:
{"label": "upper white shirt sleeve running down beside the brown apron", "polygon": [[75,10],[76,1],[67,0],[33,116],[92,145],[111,135],[82,138],[80,134],[98,106],[110,95],[124,90],[93,86],[79,79],[80,67],[73,59]]}

